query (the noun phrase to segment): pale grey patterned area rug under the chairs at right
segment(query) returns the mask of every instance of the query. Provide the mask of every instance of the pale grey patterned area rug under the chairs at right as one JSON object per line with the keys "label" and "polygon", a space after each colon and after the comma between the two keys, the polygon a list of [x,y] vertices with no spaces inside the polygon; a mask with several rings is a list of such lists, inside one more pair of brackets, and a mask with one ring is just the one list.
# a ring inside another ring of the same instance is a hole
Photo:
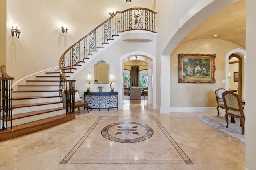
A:
{"label": "pale grey patterned area rug under the chairs at right", "polygon": [[230,117],[228,118],[228,128],[226,128],[226,120],[224,115],[190,115],[207,125],[210,125],[240,141],[245,142],[245,127],[244,127],[244,135],[241,134],[240,121],[238,118],[235,118],[236,123],[230,123]]}

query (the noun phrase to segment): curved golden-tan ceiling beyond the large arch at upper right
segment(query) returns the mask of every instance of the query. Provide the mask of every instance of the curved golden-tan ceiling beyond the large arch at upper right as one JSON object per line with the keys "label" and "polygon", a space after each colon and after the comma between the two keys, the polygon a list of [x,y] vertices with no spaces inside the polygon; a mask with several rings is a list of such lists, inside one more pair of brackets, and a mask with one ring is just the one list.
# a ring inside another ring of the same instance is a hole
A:
{"label": "curved golden-tan ceiling beyond the large arch at upper right", "polygon": [[[246,0],[239,0],[190,31],[180,44],[197,39],[222,39],[245,49]],[[214,35],[218,35],[214,37]]]}

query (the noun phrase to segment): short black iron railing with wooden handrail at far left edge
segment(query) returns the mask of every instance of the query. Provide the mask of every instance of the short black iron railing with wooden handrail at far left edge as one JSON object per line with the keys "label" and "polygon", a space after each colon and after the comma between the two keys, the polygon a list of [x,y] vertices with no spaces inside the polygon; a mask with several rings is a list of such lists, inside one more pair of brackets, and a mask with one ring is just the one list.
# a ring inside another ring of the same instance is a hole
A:
{"label": "short black iron railing with wooden handrail at far left edge", "polygon": [[12,81],[14,77],[6,73],[6,67],[1,66],[2,77],[0,77],[0,101],[1,101],[1,126],[0,131],[7,131],[7,122],[10,120],[12,129]]}

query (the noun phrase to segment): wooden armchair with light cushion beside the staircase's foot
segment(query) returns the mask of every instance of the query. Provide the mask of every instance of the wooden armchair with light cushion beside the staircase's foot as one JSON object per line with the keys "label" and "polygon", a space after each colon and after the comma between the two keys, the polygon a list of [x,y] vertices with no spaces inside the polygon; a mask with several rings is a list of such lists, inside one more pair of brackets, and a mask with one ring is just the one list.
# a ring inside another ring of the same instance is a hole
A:
{"label": "wooden armchair with light cushion beside the staircase's foot", "polygon": [[[72,101],[70,100],[70,95],[68,94],[69,90],[65,90],[64,93],[66,96],[66,106],[70,107]],[[79,96],[78,90],[71,90],[71,93],[74,95],[74,108],[72,108],[72,112],[74,113],[74,109],[76,108],[78,108],[78,111],[80,111],[79,107],[84,107],[84,109],[87,108],[87,112],[89,113],[90,107],[85,101],[85,98]]]}

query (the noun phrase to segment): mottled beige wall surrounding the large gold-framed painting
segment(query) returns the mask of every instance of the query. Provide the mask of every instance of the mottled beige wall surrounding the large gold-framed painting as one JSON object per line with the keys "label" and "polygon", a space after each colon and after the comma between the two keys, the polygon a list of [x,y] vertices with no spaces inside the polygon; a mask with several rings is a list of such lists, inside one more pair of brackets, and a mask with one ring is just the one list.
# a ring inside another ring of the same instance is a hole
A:
{"label": "mottled beige wall surrounding the large gold-framed painting", "polygon": [[[170,106],[171,107],[214,107],[216,97],[214,91],[225,88],[225,56],[238,45],[218,39],[200,39],[179,45],[170,56]],[[240,47],[241,48],[241,47]],[[178,83],[178,54],[216,54],[216,83]]]}

